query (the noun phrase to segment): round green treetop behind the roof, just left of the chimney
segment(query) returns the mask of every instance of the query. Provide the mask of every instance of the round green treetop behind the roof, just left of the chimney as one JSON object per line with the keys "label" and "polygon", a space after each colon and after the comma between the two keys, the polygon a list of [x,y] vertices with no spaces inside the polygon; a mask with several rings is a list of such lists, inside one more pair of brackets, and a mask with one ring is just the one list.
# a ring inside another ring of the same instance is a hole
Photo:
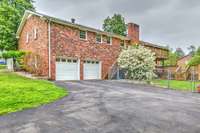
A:
{"label": "round green treetop behind the roof, just left of the chimney", "polygon": [[113,17],[107,17],[103,24],[104,31],[119,34],[122,36],[126,35],[126,24],[124,17],[120,14],[114,14]]}

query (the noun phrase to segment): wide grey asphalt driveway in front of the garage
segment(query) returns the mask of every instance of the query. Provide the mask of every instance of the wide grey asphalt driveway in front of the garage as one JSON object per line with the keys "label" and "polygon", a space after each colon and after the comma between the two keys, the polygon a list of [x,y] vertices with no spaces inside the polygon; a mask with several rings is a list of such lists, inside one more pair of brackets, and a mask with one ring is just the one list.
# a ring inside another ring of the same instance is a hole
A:
{"label": "wide grey asphalt driveway in front of the garage", "polygon": [[200,95],[119,81],[57,82],[70,95],[0,117],[0,133],[199,133]]}

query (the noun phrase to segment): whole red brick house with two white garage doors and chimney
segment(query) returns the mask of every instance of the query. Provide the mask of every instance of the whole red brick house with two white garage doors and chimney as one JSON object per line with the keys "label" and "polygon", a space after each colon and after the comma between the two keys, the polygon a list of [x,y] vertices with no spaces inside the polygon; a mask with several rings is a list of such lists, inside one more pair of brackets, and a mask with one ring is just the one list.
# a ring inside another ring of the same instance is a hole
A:
{"label": "whole red brick house with two white garage doors and chimney", "polygon": [[19,50],[28,51],[28,71],[52,80],[107,79],[121,48],[141,44],[159,64],[168,49],[139,40],[139,25],[120,36],[44,14],[26,11],[17,31]]}

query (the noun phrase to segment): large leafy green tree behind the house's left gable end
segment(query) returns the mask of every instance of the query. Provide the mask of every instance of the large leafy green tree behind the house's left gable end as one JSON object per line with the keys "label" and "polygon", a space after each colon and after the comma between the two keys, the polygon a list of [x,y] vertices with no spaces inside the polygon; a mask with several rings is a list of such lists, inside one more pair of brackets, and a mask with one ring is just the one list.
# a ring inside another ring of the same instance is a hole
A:
{"label": "large leafy green tree behind the house's left gable end", "polygon": [[16,50],[16,32],[26,9],[34,10],[32,0],[1,0],[0,50]]}

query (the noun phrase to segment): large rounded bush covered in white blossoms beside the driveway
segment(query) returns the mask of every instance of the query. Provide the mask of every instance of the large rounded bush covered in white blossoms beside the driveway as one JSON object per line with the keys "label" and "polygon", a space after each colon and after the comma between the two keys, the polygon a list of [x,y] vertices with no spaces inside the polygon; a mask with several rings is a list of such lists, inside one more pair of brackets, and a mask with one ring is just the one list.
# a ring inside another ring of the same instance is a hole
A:
{"label": "large rounded bush covered in white blossoms beside the driveway", "polygon": [[126,69],[126,77],[134,80],[150,80],[155,74],[155,54],[143,46],[133,46],[124,49],[119,58],[118,64]]}

